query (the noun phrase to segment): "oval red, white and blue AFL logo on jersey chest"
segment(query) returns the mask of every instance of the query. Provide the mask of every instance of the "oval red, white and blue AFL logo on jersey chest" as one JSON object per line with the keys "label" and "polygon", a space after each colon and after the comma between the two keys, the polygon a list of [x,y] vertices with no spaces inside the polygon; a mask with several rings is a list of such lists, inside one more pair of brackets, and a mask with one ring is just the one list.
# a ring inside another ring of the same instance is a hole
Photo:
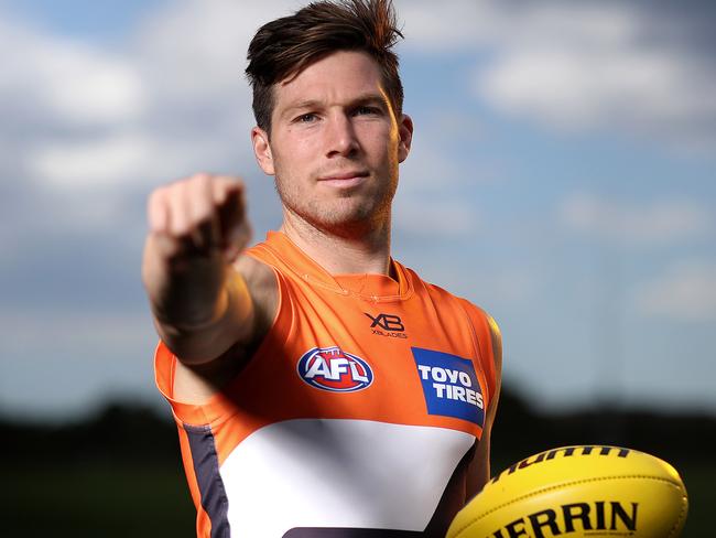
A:
{"label": "oval red, white and blue AFL logo on jersey chest", "polygon": [[301,379],[332,392],[355,392],[373,383],[373,373],[366,361],[338,346],[314,347],[299,361]]}

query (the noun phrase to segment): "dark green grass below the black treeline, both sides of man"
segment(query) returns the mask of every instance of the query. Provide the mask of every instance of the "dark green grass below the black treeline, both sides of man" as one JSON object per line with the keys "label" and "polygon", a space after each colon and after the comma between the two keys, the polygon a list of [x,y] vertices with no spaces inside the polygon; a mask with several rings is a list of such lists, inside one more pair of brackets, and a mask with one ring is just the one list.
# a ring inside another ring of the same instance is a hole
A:
{"label": "dark green grass below the black treeline, both sides of man", "polygon": [[[194,506],[175,464],[89,461],[63,466],[4,462],[0,503],[8,537],[191,538]],[[174,462],[173,462],[174,463]],[[495,471],[509,462],[495,462]],[[687,538],[712,538],[716,466],[680,469],[690,494]]]}

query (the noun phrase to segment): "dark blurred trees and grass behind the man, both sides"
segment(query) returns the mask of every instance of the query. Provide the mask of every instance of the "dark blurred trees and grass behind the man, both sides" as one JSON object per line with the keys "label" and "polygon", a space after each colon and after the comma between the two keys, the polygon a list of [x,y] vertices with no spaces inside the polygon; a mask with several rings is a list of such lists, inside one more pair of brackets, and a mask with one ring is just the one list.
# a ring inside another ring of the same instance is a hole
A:
{"label": "dark blurred trees and grass behind the man, both sides", "polygon": [[[500,406],[492,431],[493,474],[552,446],[642,450],[673,464],[686,484],[691,507],[682,536],[716,536],[709,517],[716,507],[713,417],[601,410],[549,417],[533,413],[509,391]],[[176,428],[166,416],[110,404],[78,422],[33,426],[0,419],[0,536],[195,536]]]}

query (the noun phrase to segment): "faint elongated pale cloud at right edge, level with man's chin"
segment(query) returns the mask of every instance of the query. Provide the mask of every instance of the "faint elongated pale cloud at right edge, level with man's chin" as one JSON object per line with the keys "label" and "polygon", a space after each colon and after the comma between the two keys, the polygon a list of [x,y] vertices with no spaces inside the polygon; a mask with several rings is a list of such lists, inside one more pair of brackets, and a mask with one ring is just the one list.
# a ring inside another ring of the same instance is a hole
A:
{"label": "faint elongated pale cloud at right edge, level with man's chin", "polygon": [[712,212],[687,200],[629,205],[576,194],[562,202],[558,218],[578,233],[625,243],[674,243],[703,237],[714,229]]}

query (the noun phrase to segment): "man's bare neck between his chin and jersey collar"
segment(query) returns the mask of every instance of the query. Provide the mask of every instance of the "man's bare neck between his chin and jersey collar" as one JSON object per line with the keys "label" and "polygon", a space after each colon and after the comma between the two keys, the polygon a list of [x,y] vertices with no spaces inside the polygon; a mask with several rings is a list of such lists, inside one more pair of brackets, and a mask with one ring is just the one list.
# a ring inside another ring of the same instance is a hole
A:
{"label": "man's bare neck between his chin and jersey collar", "polygon": [[283,232],[330,275],[390,275],[390,218],[355,234],[332,234],[284,212]]}

